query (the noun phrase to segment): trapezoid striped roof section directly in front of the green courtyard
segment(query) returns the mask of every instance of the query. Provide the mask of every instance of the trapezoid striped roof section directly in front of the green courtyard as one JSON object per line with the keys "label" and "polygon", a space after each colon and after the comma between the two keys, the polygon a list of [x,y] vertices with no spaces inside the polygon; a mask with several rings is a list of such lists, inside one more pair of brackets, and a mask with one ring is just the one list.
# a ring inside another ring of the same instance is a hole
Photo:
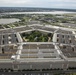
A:
{"label": "trapezoid striped roof section directly in front of the green courtyard", "polygon": [[[61,59],[53,44],[23,44],[20,59]],[[48,60],[49,61],[49,60]],[[30,62],[30,61],[29,61]]]}

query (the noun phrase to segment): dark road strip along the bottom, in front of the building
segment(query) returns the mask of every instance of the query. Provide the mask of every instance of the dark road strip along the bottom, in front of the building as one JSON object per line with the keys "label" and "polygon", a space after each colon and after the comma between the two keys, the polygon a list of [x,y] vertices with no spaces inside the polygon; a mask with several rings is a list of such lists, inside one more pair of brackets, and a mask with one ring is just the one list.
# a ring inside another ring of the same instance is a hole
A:
{"label": "dark road strip along the bottom, in front of the building", "polygon": [[0,72],[0,75],[66,75],[66,74],[76,73],[76,70],[69,70],[69,71],[25,71],[25,72]]}

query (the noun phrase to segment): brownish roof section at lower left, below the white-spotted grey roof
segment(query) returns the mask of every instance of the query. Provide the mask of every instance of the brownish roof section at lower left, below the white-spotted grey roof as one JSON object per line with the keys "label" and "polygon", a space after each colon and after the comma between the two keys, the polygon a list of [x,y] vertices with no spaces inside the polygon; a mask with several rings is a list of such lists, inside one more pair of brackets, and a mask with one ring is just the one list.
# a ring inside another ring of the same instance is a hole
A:
{"label": "brownish roof section at lower left, below the white-spotted grey roof", "polygon": [[11,56],[16,55],[16,52],[16,45],[0,47],[0,59],[11,59]]}

